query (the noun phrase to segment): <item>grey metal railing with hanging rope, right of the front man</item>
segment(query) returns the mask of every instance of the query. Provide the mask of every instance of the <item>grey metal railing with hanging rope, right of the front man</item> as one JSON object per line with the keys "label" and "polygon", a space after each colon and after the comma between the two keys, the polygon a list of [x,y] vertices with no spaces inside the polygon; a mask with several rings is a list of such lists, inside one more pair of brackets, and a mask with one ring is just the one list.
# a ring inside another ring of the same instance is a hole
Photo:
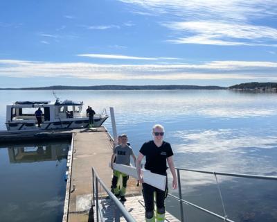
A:
{"label": "grey metal railing with hanging rope, right of the front man", "polygon": [[[206,212],[207,214],[211,214],[212,216],[217,217],[218,219],[222,219],[222,221],[228,221],[228,222],[234,222],[231,219],[228,219],[228,216],[226,214],[226,210],[224,207],[224,201],[222,198],[222,193],[220,190],[220,185],[217,180],[217,176],[232,176],[232,177],[239,177],[239,178],[252,178],[252,179],[261,179],[261,180],[277,180],[277,176],[260,176],[260,175],[251,175],[251,174],[241,174],[241,173],[223,173],[223,172],[215,172],[215,171],[201,171],[201,170],[195,170],[195,169],[182,169],[182,168],[176,168],[177,170],[177,180],[178,180],[178,191],[179,191],[179,197],[168,194],[168,196],[171,196],[172,198],[175,198],[175,200],[179,201],[180,205],[180,212],[181,212],[181,221],[185,221],[184,219],[184,209],[183,204],[189,205],[191,207],[195,207],[197,210],[201,210],[202,212]],[[216,214],[215,212],[211,212],[210,210],[205,209],[204,207],[200,207],[199,205],[195,205],[194,203],[190,203],[187,200],[184,200],[182,198],[181,194],[181,177],[180,177],[180,171],[190,171],[195,173],[206,173],[206,174],[212,174],[215,176],[215,181],[217,183],[217,189],[220,194],[220,199],[222,201],[222,208],[224,212],[224,216],[221,216],[219,214]]]}

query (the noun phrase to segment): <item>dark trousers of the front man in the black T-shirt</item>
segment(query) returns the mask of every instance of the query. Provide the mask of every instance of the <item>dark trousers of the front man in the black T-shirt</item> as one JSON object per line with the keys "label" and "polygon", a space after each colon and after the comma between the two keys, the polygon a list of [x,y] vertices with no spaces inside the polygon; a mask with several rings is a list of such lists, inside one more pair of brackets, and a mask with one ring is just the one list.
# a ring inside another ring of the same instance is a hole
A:
{"label": "dark trousers of the front man in the black T-shirt", "polygon": [[157,208],[165,208],[164,200],[168,195],[168,178],[166,178],[166,191],[162,191],[156,187],[152,187],[147,183],[143,182],[143,198],[145,204],[145,212],[154,211],[154,193],[156,193],[156,205]]}

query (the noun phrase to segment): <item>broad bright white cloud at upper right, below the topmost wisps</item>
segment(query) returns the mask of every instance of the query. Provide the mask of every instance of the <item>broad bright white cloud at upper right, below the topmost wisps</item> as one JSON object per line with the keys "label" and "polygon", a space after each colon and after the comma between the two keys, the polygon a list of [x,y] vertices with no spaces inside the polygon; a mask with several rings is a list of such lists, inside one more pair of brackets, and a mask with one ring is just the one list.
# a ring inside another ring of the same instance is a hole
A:
{"label": "broad bright white cloud at upper right, below the topmost wisps", "polygon": [[[265,39],[277,41],[277,29],[246,24],[222,22],[175,22],[165,24],[174,30],[186,31],[191,37],[170,40],[175,43],[217,45],[265,45]],[[269,45],[269,44],[268,44]],[[277,44],[275,45],[277,46]]]}

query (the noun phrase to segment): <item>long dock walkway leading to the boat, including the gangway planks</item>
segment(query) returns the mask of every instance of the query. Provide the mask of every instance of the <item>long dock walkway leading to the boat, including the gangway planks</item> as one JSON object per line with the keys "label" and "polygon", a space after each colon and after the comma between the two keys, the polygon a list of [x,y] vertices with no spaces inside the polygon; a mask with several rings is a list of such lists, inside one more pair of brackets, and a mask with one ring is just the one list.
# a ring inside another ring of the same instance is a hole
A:
{"label": "long dock walkway leading to the boat, including the gangway planks", "polygon": [[[111,184],[112,170],[109,168],[113,141],[106,128],[100,127],[95,130],[84,129],[73,133],[73,147],[71,164],[69,166],[69,179],[66,186],[66,200],[64,205],[63,222],[93,221],[91,210],[92,198],[92,172],[94,167],[101,180],[107,187]],[[114,221],[111,200],[105,191],[100,190],[100,210],[103,221]],[[144,221],[143,197],[141,187],[136,186],[136,180],[129,178],[127,183],[127,201],[124,203],[127,210],[136,221]],[[174,216],[166,214],[168,221],[176,222]],[[125,221],[121,219],[120,221]]]}

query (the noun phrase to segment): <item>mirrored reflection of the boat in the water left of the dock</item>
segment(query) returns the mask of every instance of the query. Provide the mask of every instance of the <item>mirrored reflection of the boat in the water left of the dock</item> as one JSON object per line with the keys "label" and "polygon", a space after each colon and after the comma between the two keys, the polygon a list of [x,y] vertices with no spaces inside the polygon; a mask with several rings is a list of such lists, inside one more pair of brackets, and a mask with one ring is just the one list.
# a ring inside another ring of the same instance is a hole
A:
{"label": "mirrored reflection of the boat in the water left of the dock", "polygon": [[67,157],[68,151],[68,144],[8,147],[10,163],[62,160]]}

